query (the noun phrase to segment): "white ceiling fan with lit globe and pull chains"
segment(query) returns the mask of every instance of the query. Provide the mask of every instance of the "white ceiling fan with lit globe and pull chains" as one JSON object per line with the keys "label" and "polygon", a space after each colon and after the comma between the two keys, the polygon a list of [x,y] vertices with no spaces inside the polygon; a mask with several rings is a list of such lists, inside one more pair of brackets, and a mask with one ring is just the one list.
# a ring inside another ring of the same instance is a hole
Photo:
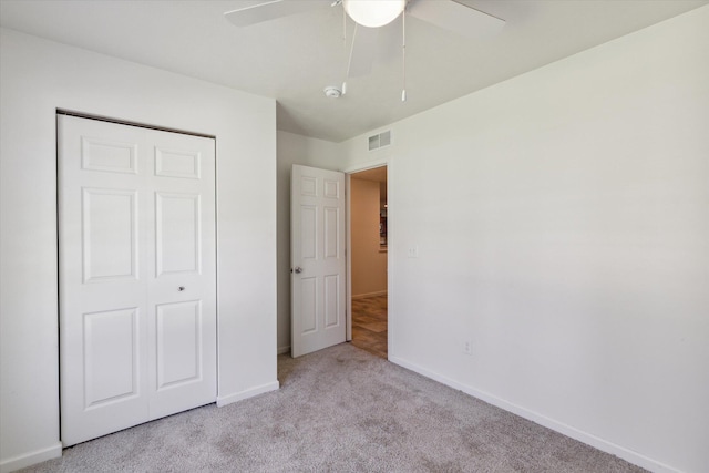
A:
{"label": "white ceiling fan with lit globe and pull chains", "polygon": [[[356,23],[346,78],[366,75],[370,72],[378,29],[386,27],[400,16],[404,18],[402,41],[404,58],[405,16],[414,17],[470,39],[494,35],[505,24],[504,20],[458,0],[269,0],[227,11],[224,16],[236,27],[248,27],[318,8],[339,6],[342,6],[345,13]],[[402,14],[404,11],[405,16]],[[346,86],[347,84],[343,83],[341,93],[346,92]],[[405,101],[405,88],[402,91],[401,100]]]}

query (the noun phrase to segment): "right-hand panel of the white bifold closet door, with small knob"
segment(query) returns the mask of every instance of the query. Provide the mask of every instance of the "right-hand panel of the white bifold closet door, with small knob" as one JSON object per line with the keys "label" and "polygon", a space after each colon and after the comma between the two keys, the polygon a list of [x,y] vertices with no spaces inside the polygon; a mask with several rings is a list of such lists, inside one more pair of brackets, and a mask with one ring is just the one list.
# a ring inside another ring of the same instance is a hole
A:
{"label": "right-hand panel of the white bifold closet door, with small knob", "polygon": [[216,401],[215,142],[148,131],[150,412]]}

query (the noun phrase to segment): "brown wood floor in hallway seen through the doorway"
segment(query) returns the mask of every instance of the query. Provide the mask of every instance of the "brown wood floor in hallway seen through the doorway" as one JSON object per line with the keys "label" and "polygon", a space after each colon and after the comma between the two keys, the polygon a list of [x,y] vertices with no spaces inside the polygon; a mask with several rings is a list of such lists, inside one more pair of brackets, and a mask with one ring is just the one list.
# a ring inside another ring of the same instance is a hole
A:
{"label": "brown wood floor in hallway seen through the doorway", "polygon": [[387,295],[352,299],[352,345],[387,359]]}

